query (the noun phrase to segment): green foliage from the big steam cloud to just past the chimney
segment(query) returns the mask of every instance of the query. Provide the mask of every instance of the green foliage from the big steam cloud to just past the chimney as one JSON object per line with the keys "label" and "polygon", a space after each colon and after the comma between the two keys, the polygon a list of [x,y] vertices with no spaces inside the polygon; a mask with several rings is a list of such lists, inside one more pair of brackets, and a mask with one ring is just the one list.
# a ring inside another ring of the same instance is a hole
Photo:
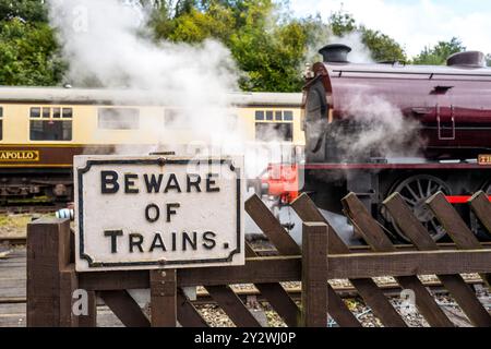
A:
{"label": "green foliage from the big steam cloud to just past the chimney", "polygon": [[287,2],[272,0],[164,1],[156,7],[152,26],[156,39],[200,43],[215,38],[231,51],[244,72],[247,91],[298,92],[301,71],[331,35],[360,32],[375,60],[406,60],[400,46],[388,36],[357,25],[337,12],[327,23],[320,16],[295,19],[283,11]]}

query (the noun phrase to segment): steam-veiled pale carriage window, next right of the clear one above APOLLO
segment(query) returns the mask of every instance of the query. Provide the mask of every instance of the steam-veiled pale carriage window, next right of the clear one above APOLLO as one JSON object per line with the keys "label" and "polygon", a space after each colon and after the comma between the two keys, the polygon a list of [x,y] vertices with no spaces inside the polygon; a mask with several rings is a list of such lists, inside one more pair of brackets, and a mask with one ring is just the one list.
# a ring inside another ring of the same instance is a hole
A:
{"label": "steam-veiled pale carriage window, next right of the clear one above APOLLO", "polygon": [[101,130],[137,130],[140,110],[134,108],[100,108],[97,119]]}

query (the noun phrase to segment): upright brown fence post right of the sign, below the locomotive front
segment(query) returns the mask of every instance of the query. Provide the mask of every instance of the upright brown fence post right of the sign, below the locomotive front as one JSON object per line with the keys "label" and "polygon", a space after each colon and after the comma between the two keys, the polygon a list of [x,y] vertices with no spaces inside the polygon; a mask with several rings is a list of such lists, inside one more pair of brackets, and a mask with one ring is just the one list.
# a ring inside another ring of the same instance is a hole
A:
{"label": "upright brown fence post right of the sign, below the locomotive front", "polygon": [[302,227],[301,326],[327,326],[327,225],[304,222]]}

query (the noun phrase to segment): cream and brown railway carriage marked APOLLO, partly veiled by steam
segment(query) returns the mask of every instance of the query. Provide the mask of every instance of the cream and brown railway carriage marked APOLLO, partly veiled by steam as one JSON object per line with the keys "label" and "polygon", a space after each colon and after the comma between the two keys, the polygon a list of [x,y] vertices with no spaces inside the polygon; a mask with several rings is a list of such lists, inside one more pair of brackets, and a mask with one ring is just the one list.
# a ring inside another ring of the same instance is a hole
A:
{"label": "cream and brown railway carriage marked APOLLO, partly veiled by steam", "polygon": [[[302,146],[301,98],[230,94],[224,115],[244,142],[267,142],[274,132],[278,142]],[[135,91],[1,87],[1,203],[70,201],[74,155],[146,154],[156,145],[175,151],[199,140],[197,128],[179,116],[185,107],[163,99]]]}

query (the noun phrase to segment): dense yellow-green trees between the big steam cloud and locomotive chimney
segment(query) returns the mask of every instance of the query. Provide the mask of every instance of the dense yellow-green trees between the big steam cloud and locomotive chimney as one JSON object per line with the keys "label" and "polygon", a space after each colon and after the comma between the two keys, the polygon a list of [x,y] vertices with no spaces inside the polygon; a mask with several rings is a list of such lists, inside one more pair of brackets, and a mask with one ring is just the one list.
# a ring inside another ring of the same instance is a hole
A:
{"label": "dense yellow-green trees between the big steam cloud and locomotive chimney", "polygon": [[247,91],[297,92],[298,69],[304,57],[307,33],[302,21],[280,13],[272,0],[190,1],[185,11],[166,1],[156,8],[152,26],[157,39],[201,43],[215,38],[226,45],[244,73]]}

